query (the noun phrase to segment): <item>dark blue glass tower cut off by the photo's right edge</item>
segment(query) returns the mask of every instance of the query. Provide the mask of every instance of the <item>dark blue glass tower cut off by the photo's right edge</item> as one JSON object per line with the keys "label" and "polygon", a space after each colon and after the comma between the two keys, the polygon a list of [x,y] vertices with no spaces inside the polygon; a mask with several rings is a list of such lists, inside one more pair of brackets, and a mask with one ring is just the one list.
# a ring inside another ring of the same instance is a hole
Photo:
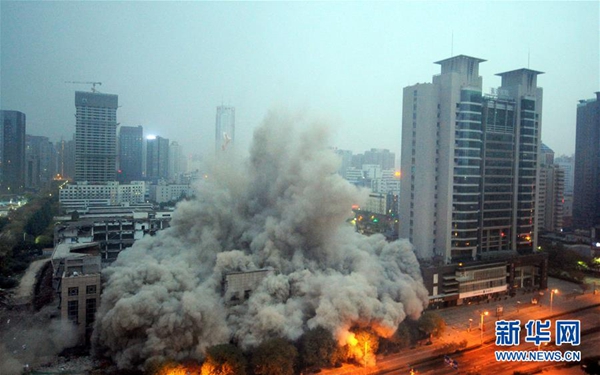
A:
{"label": "dark blue glass tower cut off by the photo's right edge", "polygon": [[573,225],[600,226],[600,91],[577,105]]}

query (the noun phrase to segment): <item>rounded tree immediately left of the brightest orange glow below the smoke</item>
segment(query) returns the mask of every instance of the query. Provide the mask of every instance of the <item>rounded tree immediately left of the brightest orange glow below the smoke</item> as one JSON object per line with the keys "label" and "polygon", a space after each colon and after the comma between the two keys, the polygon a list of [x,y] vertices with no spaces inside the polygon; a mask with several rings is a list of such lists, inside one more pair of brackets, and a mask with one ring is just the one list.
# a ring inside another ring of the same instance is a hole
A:
{"label": "rounded tree immediately left of the brightest orange glow below the smoke", "polygon": [[307,331],[300,338],[300,359],[303,368],[333,366],[336,362],[337,342],[323,327]]}

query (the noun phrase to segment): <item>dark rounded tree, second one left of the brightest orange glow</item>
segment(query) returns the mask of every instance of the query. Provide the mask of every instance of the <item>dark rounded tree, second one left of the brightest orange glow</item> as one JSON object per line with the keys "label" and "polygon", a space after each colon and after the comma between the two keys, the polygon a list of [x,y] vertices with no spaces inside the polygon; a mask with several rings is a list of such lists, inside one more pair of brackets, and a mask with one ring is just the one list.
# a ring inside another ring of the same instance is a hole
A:
{"label": "dark rounded tree, second one left of the brightest orange glow", "polygon": [[257,375],[293,375],[298,351],[290,342],[274,338],[261,343],[252,355]]}

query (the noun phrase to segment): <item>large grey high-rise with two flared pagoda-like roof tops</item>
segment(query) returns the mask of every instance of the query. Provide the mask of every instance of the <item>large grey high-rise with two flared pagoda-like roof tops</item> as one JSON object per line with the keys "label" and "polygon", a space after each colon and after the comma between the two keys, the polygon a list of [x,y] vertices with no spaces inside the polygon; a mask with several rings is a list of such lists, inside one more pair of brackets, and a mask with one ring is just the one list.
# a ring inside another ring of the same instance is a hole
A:
{"label": "large grey high-rise with two flared pagoda-like roof tops", "polygon": [[456,262],[536,246],[541,72],[501,73],[501,87],[483,96],[484,61],[438,61],[432,83],[404,89],[400,235],[421,258]]}

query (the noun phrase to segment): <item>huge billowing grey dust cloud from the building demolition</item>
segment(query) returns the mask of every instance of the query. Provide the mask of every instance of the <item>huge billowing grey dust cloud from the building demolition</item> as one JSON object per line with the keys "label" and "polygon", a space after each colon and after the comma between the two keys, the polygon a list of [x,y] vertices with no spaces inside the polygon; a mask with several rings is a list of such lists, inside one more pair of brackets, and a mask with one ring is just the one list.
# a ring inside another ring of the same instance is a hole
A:
{"label": "huge billowing grey dust cloud from the building demolition", "polygon": [[[302,132],[294,128],[302,126]],[[406,240],[362,236],[346,223],[365,193],[335,173],[324,127],[273,112],[246,163],[217,163],[178,205],[171,228],[120,254],[95,327],[96,351],[121,368],[201,359],[323,326],[340,341],[353,325],[394,332],[427,304]],[[243,303],[225,303],[226,273],[271,267]]]}

